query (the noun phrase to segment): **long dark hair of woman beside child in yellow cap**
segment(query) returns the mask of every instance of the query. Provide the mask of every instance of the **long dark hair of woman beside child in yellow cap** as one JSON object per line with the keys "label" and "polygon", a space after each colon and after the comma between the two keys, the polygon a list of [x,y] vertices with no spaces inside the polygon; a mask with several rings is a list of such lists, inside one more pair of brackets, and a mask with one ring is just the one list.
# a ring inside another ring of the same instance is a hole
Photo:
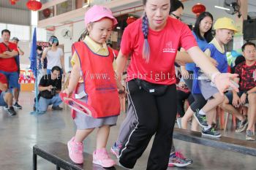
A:
{"label": "long dark hair of woman beside child in yellow cap", "polygon": [[200,34],[200,22],[203,20],[203,18],[206,18],[206,17],[209,17],[209,18],[211,18],[212,21],[214,21],[214,18],[213,18],[213,16],[211,15],[210,12],[202,12],[202,13],[198,16],[197,20],[195,21],[195,27],[194,27],[193,31],[195,32],[195,35],[196,35],[199,39],[201,39],[201,40],[206,39],[206,42],[211,42],[211,40],[213,39],[213,36],[212,36],[212,33],[211,33],[211,31],[212,31],[212,26],[211,26],[211,28],[204,34],[204,36],[201,36],[201,34]]}

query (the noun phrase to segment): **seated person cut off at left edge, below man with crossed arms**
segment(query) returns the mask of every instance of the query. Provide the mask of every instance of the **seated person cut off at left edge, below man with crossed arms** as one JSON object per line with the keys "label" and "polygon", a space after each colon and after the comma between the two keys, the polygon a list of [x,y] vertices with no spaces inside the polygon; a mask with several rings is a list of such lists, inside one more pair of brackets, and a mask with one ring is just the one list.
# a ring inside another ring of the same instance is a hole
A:
{"label": "seated person cut off at left edge, below man with crossed arms", "polygon": [[0,106],[4,107],[9,115],[16,115],[12,107],[12,93],[8,90],[7,78],[0,73]]}

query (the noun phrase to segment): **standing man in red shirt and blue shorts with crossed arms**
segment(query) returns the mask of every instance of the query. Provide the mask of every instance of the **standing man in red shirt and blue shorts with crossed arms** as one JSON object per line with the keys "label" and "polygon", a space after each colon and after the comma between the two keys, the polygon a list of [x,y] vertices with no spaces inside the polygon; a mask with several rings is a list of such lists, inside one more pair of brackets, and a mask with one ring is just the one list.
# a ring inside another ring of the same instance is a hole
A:
{"label": "standing man in red shirt and blue shorts with crossed arms", "polygon": [[21,109],[22,107],[18,104],[18,66],[15,61],[18,55],[17,45],[9,42],[10,31],[7,29],[1,31],[1,39],[3,42],[0,43],[0,73],[7,77],[9,88],[14,90],[13,107]]}

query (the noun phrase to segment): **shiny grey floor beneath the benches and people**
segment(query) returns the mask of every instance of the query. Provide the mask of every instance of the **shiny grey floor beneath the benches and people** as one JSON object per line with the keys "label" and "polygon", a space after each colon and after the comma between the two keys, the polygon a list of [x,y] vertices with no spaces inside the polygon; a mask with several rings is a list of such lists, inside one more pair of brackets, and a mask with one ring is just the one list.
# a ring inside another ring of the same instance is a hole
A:
{"label": "shiny grey floor beneath the benches and people", "polygon": [[[20,104],[23,109],[18,115],[11,117],[0,109],[0,170],[29,170],[32,167],[32,146],[40,143],[63,142],[66,143],[75,133],[69,109],[52,112],[49,110],[45,115],[30,115],[33,105],[32,93],[21,93]],[[118,125],[110,132],[108,148],[113,144],[117,135],[118,127],[125,114],[118,118]],[[222,133],[225,136],[236,136],[244,139],[245,134],[234,134],[233,131]],[[86,139],[85,152],[91,153],[95,148],[95,132]],[[185,169],[217,169],[217,170],[255,170],[256,158],[243,155],[238,152],[229,152],[198,144],[191,144],[174,140],[176,150],[181,150],[184,155],[192,158],[194,163]],[[146,169],[148,158],[148,145],[146,152],[138,160],[135,170]],[[56,169],[51,163],[39,158],[39,170]],[[178,169],[178,168],[169,168]],[[183,168],[184,169],[184,168]]]}

